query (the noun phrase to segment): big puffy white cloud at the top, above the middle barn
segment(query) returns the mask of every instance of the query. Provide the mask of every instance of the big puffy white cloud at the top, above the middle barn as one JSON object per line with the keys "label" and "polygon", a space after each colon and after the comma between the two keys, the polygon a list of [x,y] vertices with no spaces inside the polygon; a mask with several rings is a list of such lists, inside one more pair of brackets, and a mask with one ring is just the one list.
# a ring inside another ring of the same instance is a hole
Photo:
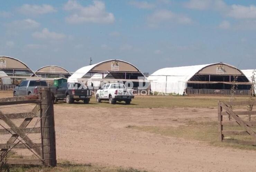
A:
{"label": "big puffy white cloud at the top, above the middle barn", "polygon": [[106,11],[102,1],[93,1],[93,5],[83,7],[76,0],[68,0],[64,10],[72,12],[69,17],[66,17],[68,23],[113,23],[115,21],[114,15]]}

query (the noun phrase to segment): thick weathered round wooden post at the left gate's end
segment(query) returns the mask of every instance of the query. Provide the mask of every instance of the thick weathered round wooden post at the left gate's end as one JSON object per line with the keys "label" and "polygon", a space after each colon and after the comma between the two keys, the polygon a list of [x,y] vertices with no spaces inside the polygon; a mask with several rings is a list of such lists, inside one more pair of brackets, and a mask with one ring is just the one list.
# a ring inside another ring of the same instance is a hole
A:
{"label": "thick weathered round wooden post at the left gate's end", "polygon": [[56,166],[56,142],[54,128],[53,98],[50,88],[43,88],[40,92],[41,104],[41,130],[44,165]]}

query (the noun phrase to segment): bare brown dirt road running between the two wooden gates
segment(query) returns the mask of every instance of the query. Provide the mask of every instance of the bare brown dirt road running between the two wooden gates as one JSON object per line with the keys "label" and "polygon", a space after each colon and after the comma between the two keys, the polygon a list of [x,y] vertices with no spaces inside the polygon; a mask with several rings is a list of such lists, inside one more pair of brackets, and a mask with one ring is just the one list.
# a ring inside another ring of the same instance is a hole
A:
{"label": "bare brown dirt road running between the two wooden gates", "polygon": [[[55,105],[58,160],[149,171],[255,171],[255,151],[130,129],[178,126],[187,119],[216,121],[209,108],[86,108]],[[174,120],[175,119],[175,120]]]}

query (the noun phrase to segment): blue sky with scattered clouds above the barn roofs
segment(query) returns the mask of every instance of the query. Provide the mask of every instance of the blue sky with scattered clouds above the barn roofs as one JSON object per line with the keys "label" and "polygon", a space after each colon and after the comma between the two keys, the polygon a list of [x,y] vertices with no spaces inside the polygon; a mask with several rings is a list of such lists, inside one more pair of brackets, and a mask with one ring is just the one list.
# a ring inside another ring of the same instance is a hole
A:
{"label": "blue sky with scattered clouds above the barn roofs", "polygon": [[253,0],[0,2],[0,55],[71,72],[108,59],[141,71],[225,62],[256,66]]}

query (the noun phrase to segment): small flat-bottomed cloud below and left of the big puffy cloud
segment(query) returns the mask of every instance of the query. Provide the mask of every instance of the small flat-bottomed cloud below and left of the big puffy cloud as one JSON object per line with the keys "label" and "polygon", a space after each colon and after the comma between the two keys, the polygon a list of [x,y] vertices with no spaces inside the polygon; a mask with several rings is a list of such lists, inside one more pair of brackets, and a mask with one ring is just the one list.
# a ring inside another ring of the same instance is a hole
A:
{"label": "small flat-bottomed cloud below and left of the big puffy cloud", "polygon": [[66,37],[63,33],[50,32],[47,28],[44,28],[42,32],[34,32],[32,36],[42,40],[60,40]]}

